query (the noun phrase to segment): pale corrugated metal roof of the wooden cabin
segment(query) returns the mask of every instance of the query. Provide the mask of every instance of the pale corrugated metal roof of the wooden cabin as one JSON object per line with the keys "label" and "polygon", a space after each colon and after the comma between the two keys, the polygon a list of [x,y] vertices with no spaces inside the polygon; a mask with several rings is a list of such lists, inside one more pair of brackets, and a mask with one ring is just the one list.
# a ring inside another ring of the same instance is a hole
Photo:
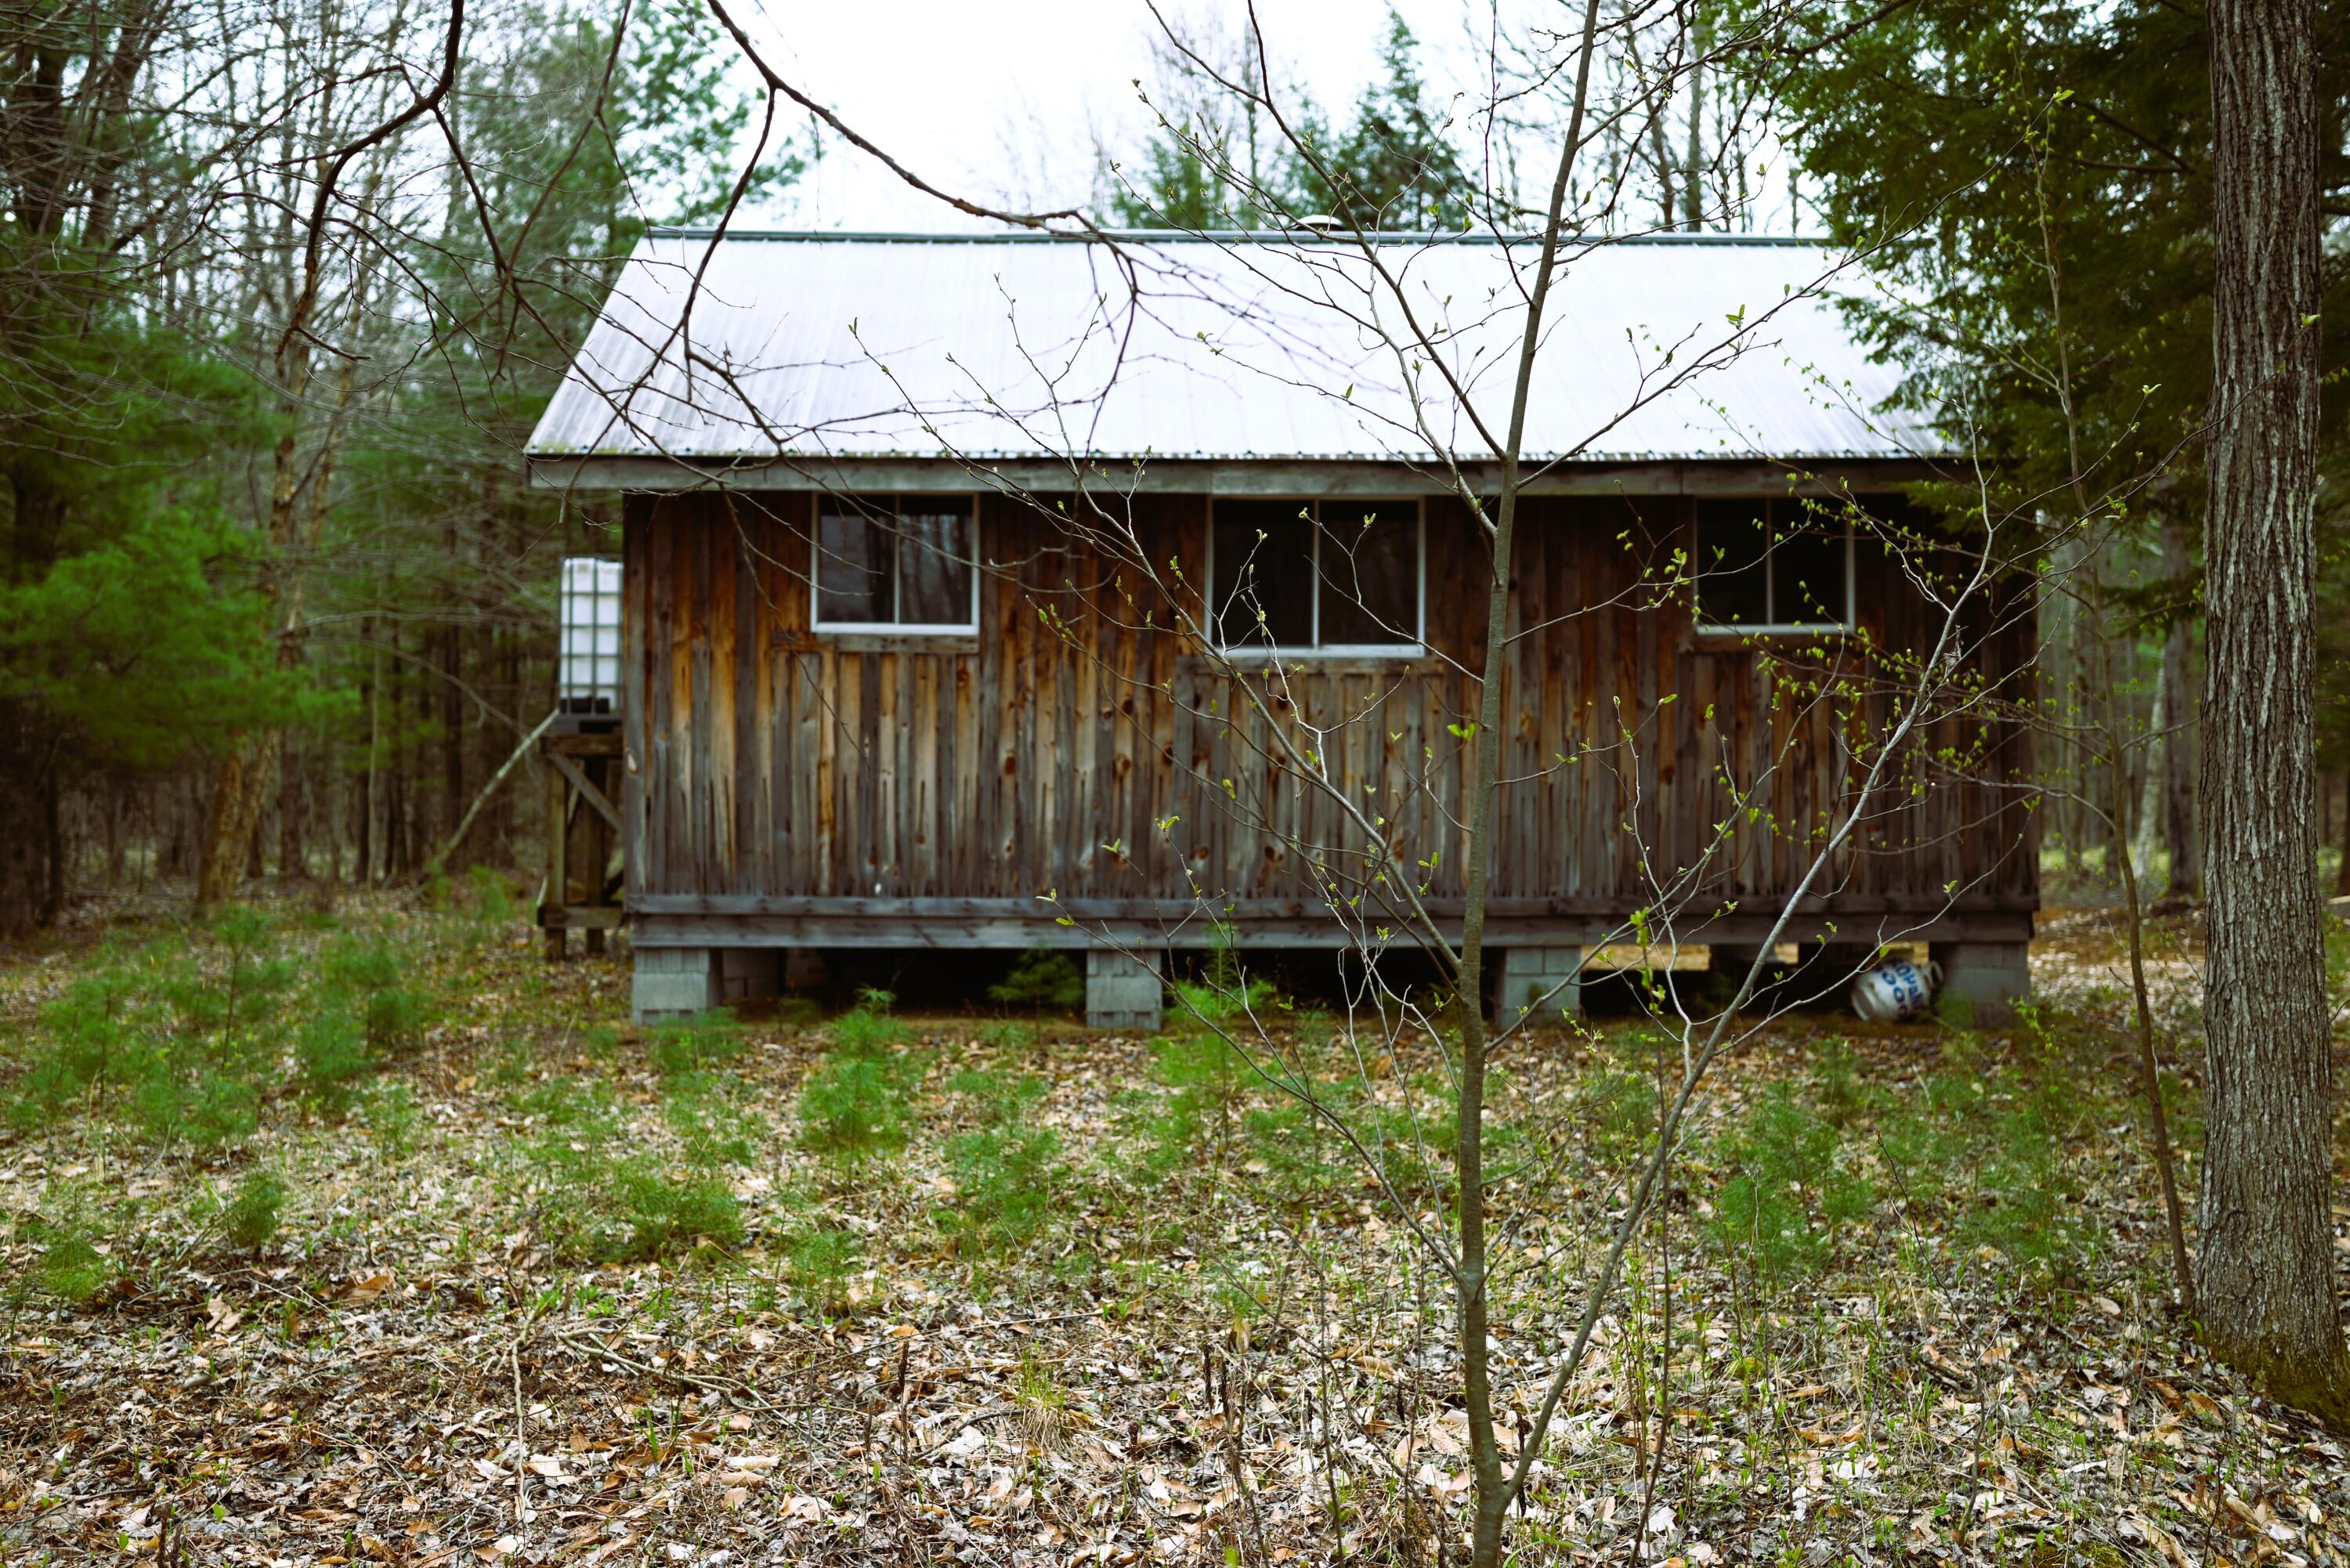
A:
{"label": "pale corrugated metal roof of the wooden cabin", "polygon": [[[653,233],[531,456],[1483,458],[1509,414],[1525,242]],[[1537,461],[1901,458],[1817,242],[1570,252],[1528,409]],[[691,310],[686,301],[691,299]],[[1415,324],[1434,353],[1401,350]],[[1450,371],[1450,374],[1445,374]]]}

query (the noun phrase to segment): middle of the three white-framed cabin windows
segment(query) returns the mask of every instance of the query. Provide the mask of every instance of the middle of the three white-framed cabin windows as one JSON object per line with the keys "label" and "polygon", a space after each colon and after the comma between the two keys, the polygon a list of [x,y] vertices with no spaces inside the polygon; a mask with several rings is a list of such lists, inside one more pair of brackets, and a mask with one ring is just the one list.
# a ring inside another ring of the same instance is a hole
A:
{"label": "middle of the three white-framed cabin windows", "polygon": [[1417,654],[1417,501],[1217,501],[1213,630],[1227,649]]}

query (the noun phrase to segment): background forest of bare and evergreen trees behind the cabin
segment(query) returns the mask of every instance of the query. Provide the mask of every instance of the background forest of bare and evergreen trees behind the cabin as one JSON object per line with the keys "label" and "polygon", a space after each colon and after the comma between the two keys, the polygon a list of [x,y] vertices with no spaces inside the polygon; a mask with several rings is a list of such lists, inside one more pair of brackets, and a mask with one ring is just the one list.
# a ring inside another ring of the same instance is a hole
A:
{"label": "background forest of bare and evergreen trees behind the cabin", "polygon": [[[1603,99],[1673,101],[1598,118],[1624,190],[1607,226],[1871,252],[1906,306],[1864,327],[1965,449],[2000,461],[1993,508],[2028,515],[2082,482],[2110,496],[2049,559],[2049,900],[2101,900],[2122,849],[2150,889],[2193,896],[2200,19],[1920,2],[1795,7],[1767,33],[1739,5],[1619,21],[1631,47]],[[113,891],[216,903],[240,879],[536,858],[543,790],[501,790],[451,835],[552,705],[559,557],[618,538],[611,498],[524,489],[522,442],[646,226],[792,221],[811,167],[858,153],[778,113],[693,5],[494,0],[449,24],[336,0],[0,7],[0,938]],[[1542,14],[1518,45],[1483,38],[1497,80],[1523,80],[1476,113],[1429,85],[1389,14],[1351,101],[1300,89],[1321,160],[1276,155],[1206,75],[1241,31],[1182,26],[1191,52],[1159,49],[1133,127],[1095,136],[1069,197],[1095,221],[1525,228],[1511,146],[1556,134]],[[1739,35],[1772,47],[1708,54]],[[2338,190],[2338,14],[2322,42]],[[1250,169],[1253,200],[1203,139]],[[1027,179],[1015,143],[1018,127],[1006,188]],[[2338,287],[2334,249],[2329,266]],[[2341,421],[2326,430],[2331,468]],[[2341,846],[2338,487],[2322,512],[2319,813]]]}

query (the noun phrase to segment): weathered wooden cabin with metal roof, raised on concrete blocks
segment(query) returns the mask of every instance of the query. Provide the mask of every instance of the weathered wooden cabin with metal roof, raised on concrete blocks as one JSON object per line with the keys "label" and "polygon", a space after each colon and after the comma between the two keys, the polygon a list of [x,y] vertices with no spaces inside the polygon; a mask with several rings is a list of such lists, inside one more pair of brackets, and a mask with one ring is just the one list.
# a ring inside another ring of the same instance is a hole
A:
{"label": "weathered wooden cabin with metal roof, raised on concrete blocks", "polygon": [[[1532,247],[1398,237],[1379,277],[1307,240],[639,247],[529,461],[625,494],[642,1020],[771,990],[787,950],[1053,945],[1088,954],[1095,1023],[1149,1027],[1168,950],[1401,926],[1330,907],[1372,853],[1337,795],[1384,806],[1379,851],[1459,919],[1488,550],[1431,435],[1476,444],[1365,322],[1412,303],[1452,383],[1506,400]],[[1560,980],[1633,910],[1753,952],[1932,644],[1840,522],[1899,517],[1925,442],[1875,414],[1889,371],[1814,296],[1831,270],[1680,237],[1553,296],[1497,672],[1499,1004],[1574,1006]],[[1974,696],[1781,936],[1932,943],[2000,1004],[2037,910],[2023,590],[1962,632]],[[1859,696],[1807,698],[1821,672]]]}

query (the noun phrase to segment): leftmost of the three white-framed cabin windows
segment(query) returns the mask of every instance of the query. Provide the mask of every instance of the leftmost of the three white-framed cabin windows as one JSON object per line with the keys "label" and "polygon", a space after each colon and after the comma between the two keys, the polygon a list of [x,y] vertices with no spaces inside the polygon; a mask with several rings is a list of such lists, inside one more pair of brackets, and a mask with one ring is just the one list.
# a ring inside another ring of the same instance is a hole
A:
{"label": "leftmost of the three white-framed cabin windows", "polygon": [[973,515],[971,496],[820,496],[815,628],[978,630]]}

